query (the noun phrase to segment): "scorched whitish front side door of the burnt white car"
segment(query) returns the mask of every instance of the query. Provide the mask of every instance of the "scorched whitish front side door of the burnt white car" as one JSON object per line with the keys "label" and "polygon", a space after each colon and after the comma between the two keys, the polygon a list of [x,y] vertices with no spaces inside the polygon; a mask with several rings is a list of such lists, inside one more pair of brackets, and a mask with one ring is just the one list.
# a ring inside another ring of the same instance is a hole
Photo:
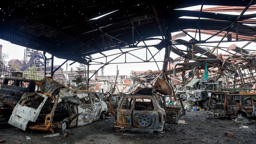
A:
{"label": "scorched whitish front side door of the burnt white car", "polygon": [[89,93],[77,92],[78,99],[83,103],[77,106],[77,126],[92,123],[94,116],[94,105]]}

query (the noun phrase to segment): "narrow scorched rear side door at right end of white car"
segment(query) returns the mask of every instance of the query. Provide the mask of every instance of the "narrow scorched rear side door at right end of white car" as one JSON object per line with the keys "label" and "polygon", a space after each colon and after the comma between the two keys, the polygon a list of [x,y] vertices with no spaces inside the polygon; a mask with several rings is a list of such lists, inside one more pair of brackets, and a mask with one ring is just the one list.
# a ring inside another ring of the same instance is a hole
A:
{"label": "narrow scorched rear side door at right end of white car", "polygon": [[92,96],[92,101],[93,103],[93,108],[94,108],[94,116],[93,116],[93,121],[97,121],[100,119],[100,114],[101,114],[101,102],[100,102],[100,98],[94,94],[91,93]]}

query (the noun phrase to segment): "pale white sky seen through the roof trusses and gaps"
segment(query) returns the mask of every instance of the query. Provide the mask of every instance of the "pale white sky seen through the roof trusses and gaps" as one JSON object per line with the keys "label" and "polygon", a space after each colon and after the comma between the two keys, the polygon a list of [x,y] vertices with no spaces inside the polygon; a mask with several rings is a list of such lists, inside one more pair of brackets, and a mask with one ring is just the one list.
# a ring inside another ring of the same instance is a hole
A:
{"label": "pale white sky seen through the roof trusses and gaps", "polygon": [[[214,6],[207,6],[204,5],[203,8],[209,8],[209,7],[214,7]],[[188,7],[188,8],[183,8],[182,10],[197,10],[200,9],[201,5],[197,5],[197,6],[193,6],[193,7]],[[225,14],[233,14],[233,15],[239,15],[239,12],[218,12],[218,13],[225,13]],[[245,12],[245,14],[253,14],[255,12]],[[182,18],[191,18],[191,17],[182,17]],[[195,18],[198,19],[198,18]],[[174,32],[172,33],[172,35],[178,34],[181,32]],[[195,33],[188,33],[191,36],[195,36]],[[201,39],[206,39],[210,37],[210,35],[204,35],[201,34]],[[162,37],[159,37],[162,38]],[[186,37],[182,37],[181,39],[187,40],[189,41],[191,38],[189,36]],[[199,40],[199,35],[196,35],[196,39]],[[220,40],[221,37],[215,36],[213,38],[210,39],[210,41],[217,41]],[[227,40],[227,38],[224,38],[224,40]],[[148,45],[152,45],[152,44],[157,44],[159,43],[160,40],[152,40],[152,41],[146,41],[146,44]],[[244,44],[246,44],[247,41],[244,42],[227,42],[227,43],[221,43],[219,46],[220,47],[228,47],[231,44],[236,44],[239,47],[242,47]],[[26,47],[22,47],[16,44],[11,44],[8,41],[2,40],[0,39],[0,44],[3,45],[2,48],[2,52],[9,54],[8,60],[12,60],[12,59],[18,59],[18,60],[23,60],[24,57],[24,49]],[[143,43],[139,43],[138,45],[144,45]],[[204,44],[204,45],[209,45],[209,46],[216,46],[217,43],[211,43],[211,44]],[[180,49],[185,50],[186,47],[183,45],[178,45],[177,46]],[[250,50],[255,50],[256,47],[256,43],[251,43],[248,46],[246,46],[244,49],[250,49]],[[209,47],[210,49],[212,49],[212,47]],[[136,49],[136,48],[127,48],[127,49],[122,49],[124,52],[128,51],[128,50],[132,50],[132,49]],[[151,51],[151,53],[154,55],[156,52],[158,52],[158,50],[155,47],[149,47],[149,50]],[[121,52],[120,50],[110,50],[110,51],[106,51],[106,52],[102,52],[105,55],[111,55],[111,54],[115,54],[115,53],[119,53]],[[216,51],[215,51],[216,52]],[[232,52],[232,51],[231,51]],[[43,53],[43,52],[42,52]],[[136,55],[137,57],[140,57],[143,60],[146,60],[146,49],[141,49],[141,50],[136,50],[136,51],[132,51],[130,52],[133,55]],[[218,53],[227,53],[224,51],[219,50]],[[234,52],[232,52],[234,53]],[[99,58],[102,57],[103,55],[101,54],[93,54],[92,58]],[[118,55],[116,55],[118,56]],[[46,57],[50,58],[51,54],[46,53]],[[148,59],[150,59],[152,56],[150,55],[150,53],[148,52]],[[172,59],[175,59],[178,57],[178,55],[174,54],[171,52],[170,57]],[[107,60],[112,60],[113,58],[115,58],[115,56],[109,56],[107,58]],[[154,57],[156,59],[156,61],[162,61],[164,60],[164,49],[162,49],[158,54],[156,54],[156,56]],[[64,62],[64,59],[59,59],[54,57],[54,65],[60,65]],[[97,59],[94,61],[98,61],[98,62],[106,62],[106,58],[101,58],[101,59]],[[122,55],[120,57],[118,57],[117,59],[111,61],[112,63],[117,63],[117,62],[124,62],[125,61],[125,56]],[[138,62],[138,61],[142,61],[130,54],[126,54],[126,62]],[[150,60],[150,61],[153,61]],[[68,61],[68,64],[72,63],[73,61]],[[159,69],[161,70],[163,67],[163,62],[157,62]],[[79,63],[75,63],[71,66],[68,66],[68,70],[70,70],[70,68],[74,68],[76,69],[76,67],[78,67]],[[102,65],[90,65],[90,70],[97,70],[98,68],[100,68]],[[130,75],[131,70],[133,71],[146,71],[146,70],[158,70],[156,63],[155,62],[148,62],[148,63],[125,63],[125,64],[109,64],[107,66],[105,66],[104,68],[104,75],[116,75],[116,67],[118,66],[118,70],[119,70],[119,75]],[[61,68],[64,68],[64,70],[66,70],[66,64],[64,64]],[[92,75],[92,74],[90,74]],[[99,71],[99,75],[100,75],[100,71]]]}

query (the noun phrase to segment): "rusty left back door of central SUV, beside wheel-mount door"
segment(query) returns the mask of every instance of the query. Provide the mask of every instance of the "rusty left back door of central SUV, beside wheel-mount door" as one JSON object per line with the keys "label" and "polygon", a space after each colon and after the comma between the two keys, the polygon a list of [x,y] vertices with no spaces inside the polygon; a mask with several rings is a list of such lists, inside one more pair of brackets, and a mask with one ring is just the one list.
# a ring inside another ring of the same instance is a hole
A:
{"label": "rusty left back door of central SUV, beside wheel-mount door", "polygon": [[117,110],[116,123],[121,127],[132,127],[133,97],[124,97]]}

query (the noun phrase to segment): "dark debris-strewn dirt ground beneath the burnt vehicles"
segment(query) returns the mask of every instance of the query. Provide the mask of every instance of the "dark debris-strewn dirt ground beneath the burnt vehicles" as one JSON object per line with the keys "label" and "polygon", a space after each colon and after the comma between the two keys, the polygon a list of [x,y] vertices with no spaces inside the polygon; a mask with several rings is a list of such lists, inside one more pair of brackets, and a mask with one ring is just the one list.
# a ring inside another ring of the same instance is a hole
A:
{"label": "dark debris-strewn dirt ground beneath the burnt vehicles", "polygon": [[[116,132],[113,128],[113,117],[108,116],[105,120],[99,120],[86,126],[68,129],[68,136],[63,138],[61,131],[59,136],[42,138],[52,132],[28,131],[24,132],[9,124],[0,127],[0,139],[5,143],[255,143],[256,123],[235,124],[233,120],[212,118],[207,112],[188,111],[180,120],[187,124],[165,124],[164,131],[159,134]],[[239,128],[241,126],[249,128]],[[229,131],[234,137],[228,137],[225,132]],[[31,140],[26,140],[29,136]]]}

